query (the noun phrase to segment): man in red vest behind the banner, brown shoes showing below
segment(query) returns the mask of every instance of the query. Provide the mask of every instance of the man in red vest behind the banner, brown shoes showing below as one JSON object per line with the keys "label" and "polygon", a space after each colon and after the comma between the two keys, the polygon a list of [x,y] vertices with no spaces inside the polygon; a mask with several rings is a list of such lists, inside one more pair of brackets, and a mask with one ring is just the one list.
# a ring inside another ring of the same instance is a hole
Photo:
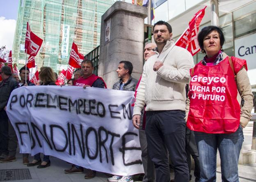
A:
{"label": "man in red vest behind the banner, brown shoes showing below", "polygon": [[[83,88],[86,87],[96,87],[96,88],[107,88],[105,81],[95,74],[92,74],[94,70],[93,62],[91,60],[84,60],[81,63],[81,72],[82,76],[79,79],[76,79],[73,82],[74,86],[80,86]],[[73,173],[83,173],[84,169],[78,165],[72,165],[71,169],[65,169],[64,172],[67,174]],[[94,178],[96,175],[96,171],[92,171],[91,169],[86,169],[85,179]]]}

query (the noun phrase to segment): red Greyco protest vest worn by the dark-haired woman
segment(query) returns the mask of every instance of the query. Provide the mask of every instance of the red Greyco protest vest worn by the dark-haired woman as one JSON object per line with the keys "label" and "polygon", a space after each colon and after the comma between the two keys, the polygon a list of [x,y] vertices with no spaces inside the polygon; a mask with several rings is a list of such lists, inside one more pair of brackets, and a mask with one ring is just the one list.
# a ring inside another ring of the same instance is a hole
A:
{"label": "red Greyco protest vest worn by the dark-haired woman", "polygon": [[[217,65],[195,65],[190,75],[190,110],[187,127],[204,133],[233,133],[240,124],[240,103],[237,100],[235,75],[245,66],[246,61],[228,57]],[[235,74],[235,75],[234,75]]]}

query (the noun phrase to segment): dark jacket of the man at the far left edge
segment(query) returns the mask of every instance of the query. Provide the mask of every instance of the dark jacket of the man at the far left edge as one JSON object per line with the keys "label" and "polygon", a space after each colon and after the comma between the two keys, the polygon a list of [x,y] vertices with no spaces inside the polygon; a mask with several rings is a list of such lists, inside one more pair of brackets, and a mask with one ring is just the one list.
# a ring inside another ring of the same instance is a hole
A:
{"label": "dark jacket of the man at the far left edge", "polygon": [[11,92],[16,88],[18,88],[18,82],[12,76],[0,82],[0,110],[5,108]]}

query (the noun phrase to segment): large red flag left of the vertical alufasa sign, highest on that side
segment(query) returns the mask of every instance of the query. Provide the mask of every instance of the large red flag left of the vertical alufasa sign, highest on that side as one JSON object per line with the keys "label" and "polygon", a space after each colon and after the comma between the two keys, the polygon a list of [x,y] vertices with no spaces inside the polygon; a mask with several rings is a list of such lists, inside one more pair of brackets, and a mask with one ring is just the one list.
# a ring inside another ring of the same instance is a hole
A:
{"label": "large red flag left of the vertical alufasa sign, highest on that side", "polygon": [[36,34],[34,34],[30,26],[27,22],[27,33],[25,38],[25,52],[30,54],[31,56],[36,56],[39,51],[41,45],[43,43],[43,39],[39,38]]}

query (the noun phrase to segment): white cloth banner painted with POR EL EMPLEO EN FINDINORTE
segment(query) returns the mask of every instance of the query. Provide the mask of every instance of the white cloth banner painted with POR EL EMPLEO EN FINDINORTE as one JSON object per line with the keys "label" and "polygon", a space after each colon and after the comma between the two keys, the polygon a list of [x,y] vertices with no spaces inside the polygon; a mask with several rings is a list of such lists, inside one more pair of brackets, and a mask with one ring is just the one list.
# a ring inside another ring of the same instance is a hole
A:
{"label": "white cloth banner painted with POR EL EMPLEO EN FINDINORTE", "polygon": [[44,153],[116,175],[144,173],[134,92],[75,86],[30,86],[11,92],[7,115],[21,153]]}

